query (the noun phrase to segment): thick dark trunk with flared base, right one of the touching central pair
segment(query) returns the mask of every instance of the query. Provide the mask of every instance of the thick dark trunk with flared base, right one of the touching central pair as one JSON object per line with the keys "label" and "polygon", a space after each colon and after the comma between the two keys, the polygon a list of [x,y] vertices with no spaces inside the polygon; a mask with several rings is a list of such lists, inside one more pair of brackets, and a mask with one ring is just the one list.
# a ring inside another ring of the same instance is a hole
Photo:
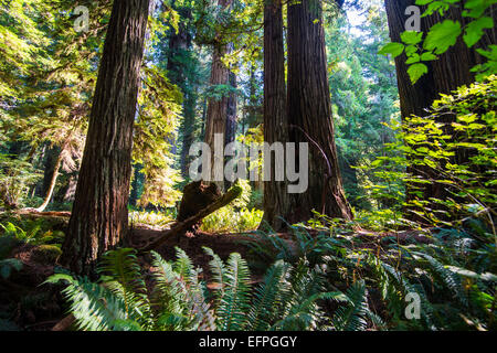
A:
{"label": "thick dark trunk with flared base, right one of the touching central pair", "polygon": [[309,188],[295,194],[289,220],[308,220],[313,210],[351,220],[334,137],[320,0],[288,4],[288,122],[290,141],[308,142],[310,151]]}

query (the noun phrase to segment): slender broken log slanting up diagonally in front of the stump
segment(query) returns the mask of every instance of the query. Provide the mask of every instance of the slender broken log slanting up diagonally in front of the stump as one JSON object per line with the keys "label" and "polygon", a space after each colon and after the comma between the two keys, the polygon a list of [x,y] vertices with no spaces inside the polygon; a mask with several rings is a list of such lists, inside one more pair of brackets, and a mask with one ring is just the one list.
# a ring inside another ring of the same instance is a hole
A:
{"label": "slender broken log slanting up diagonally in front of the stump", "polygon": [[222,208],[226,205],[229,205],[231,202],[233,202],[235,199],[237,199],[242,194],[242,188],[239,185],[232,186],[224,195],[215,200],[213,203],[204,207],[202,211],[200,211],[194,216],[191,216],[182,222],[178,222],[177,225],[175,225],[171,229],[166,231],[165,234],[158,238],[157,240],[150,243],[146,247],[139,249],[139,253],[147,253],[154,249],[157,249],[162,244],[167,242],[168,238],[172,236],[181,236],[184,232],[187,232],[189,228],[191,228],[194,224],[205,218],[211,213],[214,213],[219,208]]}

